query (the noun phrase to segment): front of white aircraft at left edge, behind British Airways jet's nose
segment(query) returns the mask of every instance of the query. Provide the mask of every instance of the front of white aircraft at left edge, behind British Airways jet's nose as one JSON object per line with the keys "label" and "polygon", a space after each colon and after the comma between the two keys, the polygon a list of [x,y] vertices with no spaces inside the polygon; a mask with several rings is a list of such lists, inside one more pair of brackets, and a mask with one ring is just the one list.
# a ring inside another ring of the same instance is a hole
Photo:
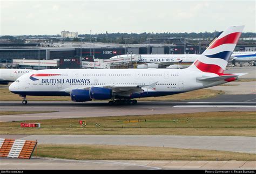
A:
{"label": "front of white aircraft at left edge, behind British Airways jet's nose", "polygon": [[35,71],[33,69],[0,69],[0,85],[8,85],[23,74]]}

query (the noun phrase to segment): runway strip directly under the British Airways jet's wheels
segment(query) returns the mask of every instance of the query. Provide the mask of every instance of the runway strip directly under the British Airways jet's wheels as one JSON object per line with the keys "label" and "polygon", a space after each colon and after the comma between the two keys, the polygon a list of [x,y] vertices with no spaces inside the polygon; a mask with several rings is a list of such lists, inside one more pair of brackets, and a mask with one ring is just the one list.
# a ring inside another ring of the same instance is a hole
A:
{"label": "runway strip directly under the British Airways jet's wheels", "polygon": [[2,122],[44,120],[44,119],[67,119],[78,117],[102,117],[123,115],[149,115],[149,114],[174,114],[174,113],[197,113],[219,111],[250,111],[256,110],[256,95],[226,96],[228,100],[243,99],[250,102],[223,102],[223,96],[218,99],[221,102],[193,100],[188,102],[173,101],[140,101],[132,106],[108,106],[107,102],[73,103],[71,101],[31,101],[29,105],[22,105],[17,101],[0,102],[2,111],[52,111],[52,113],[1,115]]}

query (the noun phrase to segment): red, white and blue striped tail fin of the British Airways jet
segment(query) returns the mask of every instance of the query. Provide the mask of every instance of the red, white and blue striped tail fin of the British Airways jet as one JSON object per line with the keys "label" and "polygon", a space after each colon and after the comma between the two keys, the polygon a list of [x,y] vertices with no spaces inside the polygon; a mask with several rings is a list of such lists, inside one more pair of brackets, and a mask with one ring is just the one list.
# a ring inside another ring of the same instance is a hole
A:
{"label": "red, white and blue striped tail fin of the British Airways jet", "polygon": [[187,69],[223,75],[244,26],[230,26]]}

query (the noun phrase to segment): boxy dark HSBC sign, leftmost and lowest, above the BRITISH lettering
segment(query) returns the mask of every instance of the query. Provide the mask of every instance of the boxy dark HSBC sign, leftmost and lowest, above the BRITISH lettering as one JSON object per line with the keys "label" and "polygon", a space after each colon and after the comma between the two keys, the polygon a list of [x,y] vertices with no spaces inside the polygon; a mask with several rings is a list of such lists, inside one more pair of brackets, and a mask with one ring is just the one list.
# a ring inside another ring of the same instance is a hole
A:
{"label": "boxy dark HSBC sign, leftmost and lowest, above the BRITISH lettering", "polygon": [[60,58],[59,68],[79,69],[81,67],[80,58]]}

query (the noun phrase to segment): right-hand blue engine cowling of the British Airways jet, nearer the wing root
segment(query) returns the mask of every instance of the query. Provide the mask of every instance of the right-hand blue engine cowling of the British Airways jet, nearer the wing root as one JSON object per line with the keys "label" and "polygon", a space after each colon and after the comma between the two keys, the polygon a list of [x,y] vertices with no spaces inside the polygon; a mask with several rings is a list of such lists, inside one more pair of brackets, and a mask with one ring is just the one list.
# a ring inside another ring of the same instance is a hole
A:
{"label": "right-hand blue engine cowling of the British Airways jet, nearer the wing root", "polygon": [[90,88],[90,98],[95,100],[107,100],[112,98],[112,90],[108,88]]}

